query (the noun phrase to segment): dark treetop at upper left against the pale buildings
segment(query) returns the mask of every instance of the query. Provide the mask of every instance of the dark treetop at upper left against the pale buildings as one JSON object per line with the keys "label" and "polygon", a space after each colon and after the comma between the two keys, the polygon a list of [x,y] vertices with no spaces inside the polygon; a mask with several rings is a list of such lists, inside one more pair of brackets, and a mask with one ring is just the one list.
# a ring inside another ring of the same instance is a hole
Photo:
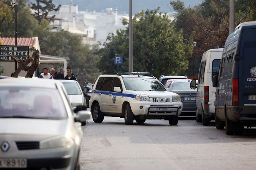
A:
{"label": "dark treetop at upper left against the pale buildings", "polygon": [[36,19],[41,22],[42,19],[46,19],[48,21],[51,21],[54,17],[52,16],[51,18],[47,18],[49,12],[51,11],[58,11],[60,10],[60,6],[55,6],[53,3],[52,3],[52,0],[36,0],[35,3],[30,3],[32,6],[31,8],[33,10],[35,10],[34,12],[34,16],[36,17]]}

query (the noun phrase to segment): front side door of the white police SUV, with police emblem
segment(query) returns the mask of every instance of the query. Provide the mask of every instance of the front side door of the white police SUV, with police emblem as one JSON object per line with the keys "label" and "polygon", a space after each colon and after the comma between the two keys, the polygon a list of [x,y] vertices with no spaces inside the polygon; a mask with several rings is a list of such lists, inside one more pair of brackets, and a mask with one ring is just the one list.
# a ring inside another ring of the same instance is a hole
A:
{"label": "front side door of the white police SUV, with police emblem", "polygon": [[114,87],[120,87],[122,90],[122,83],[118,77],[114,77],[112,86],[111,86],[111,93],[108,98],[108,112],[109,113],[121,113],[121,99],[122,99],[122,92],[114,92]]}

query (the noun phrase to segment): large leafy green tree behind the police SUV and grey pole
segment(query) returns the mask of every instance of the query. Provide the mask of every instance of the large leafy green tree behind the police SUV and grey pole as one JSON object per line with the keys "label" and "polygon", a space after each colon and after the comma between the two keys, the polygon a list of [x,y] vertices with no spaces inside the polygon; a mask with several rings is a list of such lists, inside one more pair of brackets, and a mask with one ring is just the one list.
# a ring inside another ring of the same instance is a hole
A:
{"label": "large leafy green tree behind the police SUV and grey pole", "polygon": [[[184,40],[166,14],[156,10],[142,11],[133,19],[133,70],[160,75],[183,74],[188,68],[187,57],[192,53],[192,43]],[[123,22],[128,24],[127,22]],[[107,38],[100,50],[98,68],[104,73],[116,70],[114,56],[124,57],[121,71],[128,71],[129,28],[118,30]]]}

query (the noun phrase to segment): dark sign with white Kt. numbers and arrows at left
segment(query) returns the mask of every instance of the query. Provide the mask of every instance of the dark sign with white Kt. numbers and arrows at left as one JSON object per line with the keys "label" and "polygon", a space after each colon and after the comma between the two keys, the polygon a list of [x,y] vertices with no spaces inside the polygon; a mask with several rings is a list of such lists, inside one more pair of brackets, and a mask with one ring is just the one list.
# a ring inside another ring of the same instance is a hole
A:
{"label": "dark sign with white Kt. numbers and arrows at left", "polygon": [[29,46],[0,45],[0,61],[14,61],[10,55],[17,59],[26,59],[29,54]]}

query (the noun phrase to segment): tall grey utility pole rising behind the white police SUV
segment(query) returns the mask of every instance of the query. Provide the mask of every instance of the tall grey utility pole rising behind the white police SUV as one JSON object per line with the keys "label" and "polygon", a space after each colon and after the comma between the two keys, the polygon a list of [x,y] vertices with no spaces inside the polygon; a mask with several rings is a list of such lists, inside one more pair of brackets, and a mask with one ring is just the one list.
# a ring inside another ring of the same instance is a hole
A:
{"label": "tall grey utility pole rising behind the white police SUV", "polygon": [[129,8],[129,71],[133,71],[133,54],[132,54],[132,0]]}

